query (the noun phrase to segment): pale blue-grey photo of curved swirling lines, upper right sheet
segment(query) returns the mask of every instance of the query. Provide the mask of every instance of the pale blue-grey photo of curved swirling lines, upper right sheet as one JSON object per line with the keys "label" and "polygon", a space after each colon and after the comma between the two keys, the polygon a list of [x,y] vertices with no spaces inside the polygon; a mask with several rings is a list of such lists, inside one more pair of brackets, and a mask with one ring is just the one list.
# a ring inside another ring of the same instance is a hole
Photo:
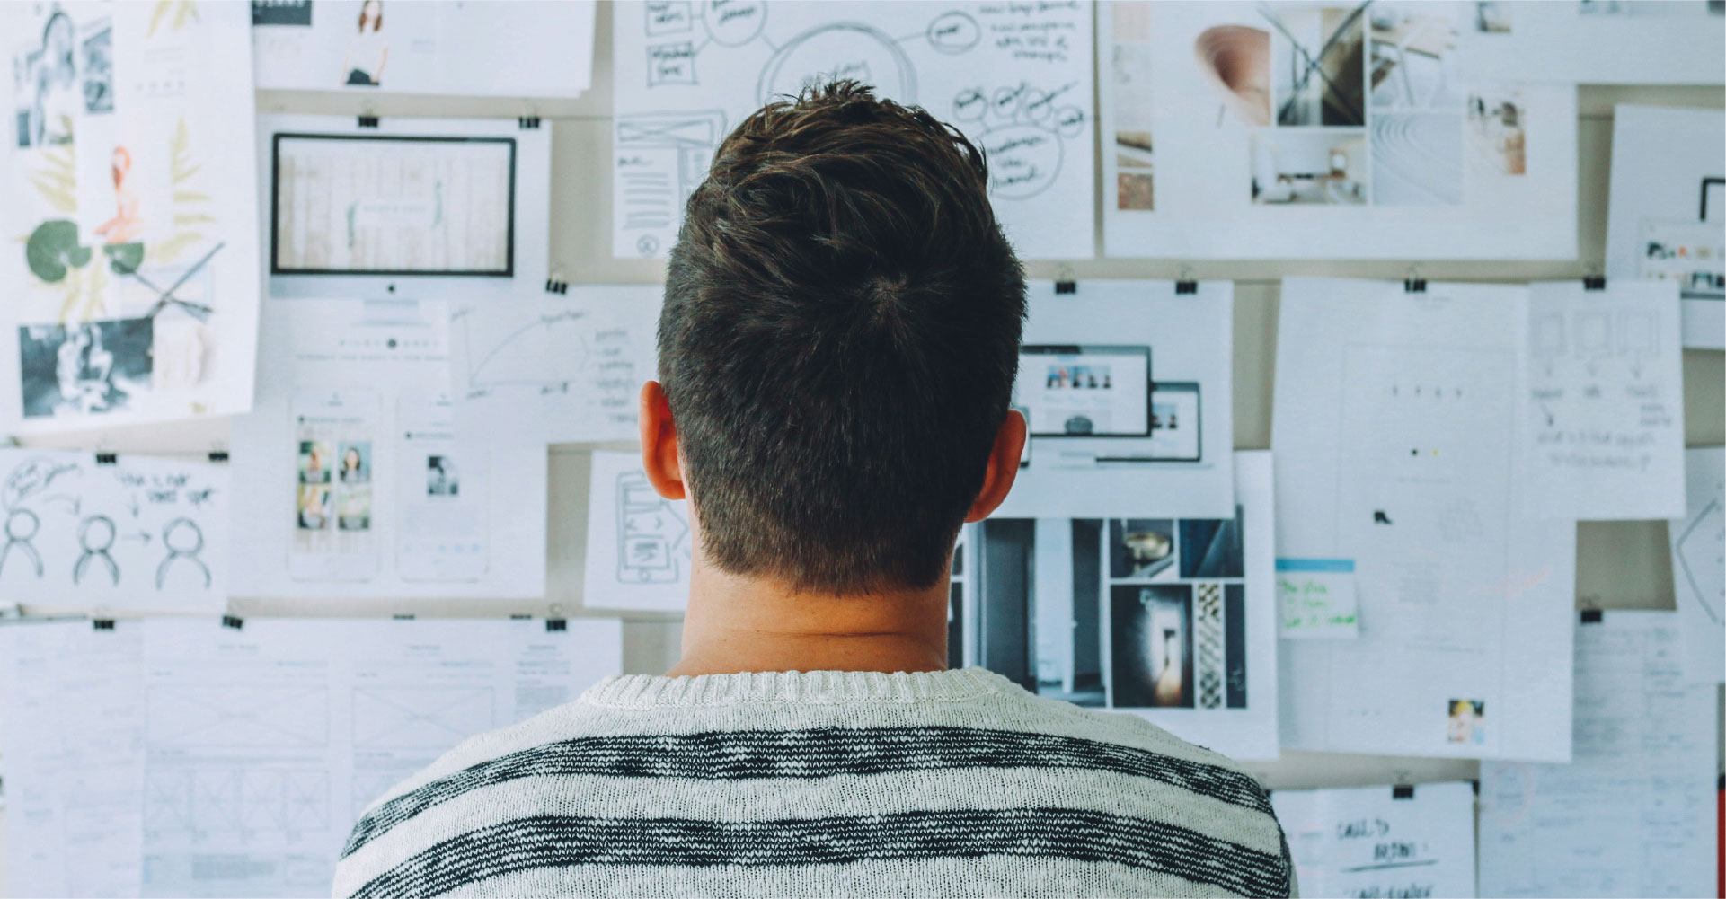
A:
{"label": "pale blue-grey photo of curved swirling lines, upper right sheet", "polygon": [[1457,205],[1462,202],[1462,116],[1455,112],[1374,112],[1374,205]]}

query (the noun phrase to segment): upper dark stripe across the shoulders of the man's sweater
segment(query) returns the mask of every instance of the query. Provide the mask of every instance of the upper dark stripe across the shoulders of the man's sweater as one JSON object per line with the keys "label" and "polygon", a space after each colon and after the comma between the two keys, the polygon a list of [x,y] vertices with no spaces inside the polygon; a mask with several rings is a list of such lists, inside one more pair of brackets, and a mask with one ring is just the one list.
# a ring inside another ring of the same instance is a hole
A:
{"label": "upper dark stripe across the shoulders of the man's sweater", "polygon": [[371,809],[342,856],[442,802],[530,776],[756,780],[961,768],[1110,771],[1270,814],[1265,792],[1239,771],[1079,737],[958,726],[654,733],[557,740],[463,768]]}

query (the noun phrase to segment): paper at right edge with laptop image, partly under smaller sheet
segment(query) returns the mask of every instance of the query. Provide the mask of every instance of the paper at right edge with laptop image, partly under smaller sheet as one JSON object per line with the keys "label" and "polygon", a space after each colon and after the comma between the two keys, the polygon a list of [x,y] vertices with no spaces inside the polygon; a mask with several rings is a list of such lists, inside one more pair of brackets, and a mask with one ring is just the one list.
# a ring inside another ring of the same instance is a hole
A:
{"label": "paper at right edge with laptop image, partly under smaller sheet", "polygon": [[1685,345],[1714,350],[1726,349],[1723,145],[1719,109],[1621,104],[1612,112],[1607,276],[1678,281]]}

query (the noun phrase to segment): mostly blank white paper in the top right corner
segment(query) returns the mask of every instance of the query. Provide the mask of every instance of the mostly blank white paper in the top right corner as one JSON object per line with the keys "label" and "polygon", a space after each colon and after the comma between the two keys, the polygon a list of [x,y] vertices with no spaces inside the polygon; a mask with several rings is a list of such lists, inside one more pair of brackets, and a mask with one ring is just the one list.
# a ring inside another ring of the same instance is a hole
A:
{"label": "mostly blank white paper in the top right corner", "polygon": [[1707,0],[1464,3],[1469,67],[1586,85],[1719,85],[1726,17]]}

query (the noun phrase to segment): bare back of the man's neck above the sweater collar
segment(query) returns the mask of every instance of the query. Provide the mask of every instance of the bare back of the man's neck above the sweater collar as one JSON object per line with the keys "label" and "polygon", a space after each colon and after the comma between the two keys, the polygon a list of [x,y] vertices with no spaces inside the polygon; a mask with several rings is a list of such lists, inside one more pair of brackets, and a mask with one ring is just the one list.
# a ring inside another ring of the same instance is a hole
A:
{"label": "bare back of the man's neck above the sweater collar", "polygon": [[683,657],[668,675],[946,670],[946,582],[942,576],[920,590],[809,594],[697,559],[683,614]]}

